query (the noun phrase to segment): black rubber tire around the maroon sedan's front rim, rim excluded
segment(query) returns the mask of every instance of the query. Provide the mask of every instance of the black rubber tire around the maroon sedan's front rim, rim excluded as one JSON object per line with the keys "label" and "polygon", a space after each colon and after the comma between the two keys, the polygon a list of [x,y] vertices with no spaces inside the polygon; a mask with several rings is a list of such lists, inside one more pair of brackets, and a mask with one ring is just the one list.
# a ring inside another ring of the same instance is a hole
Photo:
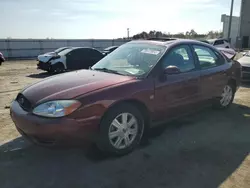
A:
{"label": "black rubber tire around the maroon sedan's front rim, rim excluded", "polygon": [[[112,123],[112,121],[121,113],[130,113],[133,116],[135,116],[135,118],[137,119],[138,122],[138,134],[136,136],[136,138],[134,139],[133,143],[124,149],[116,149],[109,140],[109,127]],[[136,148],[137,145],[139,145],[140,140],[142,138],[144,132],[144,119],[141,115],[141,113],[139,112],[139,110],[135,107],[133,107],[132,105],[129,104],[121,104],[118,106],[113,107],[112,109],[110,109],[107,114],[104,115],[101,124],[100,124],[100,135],[99,135],[99,139],[98,139],[98,147],[106,152],[112,153],[112,154],[116,154],[116,155],[124,155],[127,154],[129,152],[131,152],[134,148]]]}

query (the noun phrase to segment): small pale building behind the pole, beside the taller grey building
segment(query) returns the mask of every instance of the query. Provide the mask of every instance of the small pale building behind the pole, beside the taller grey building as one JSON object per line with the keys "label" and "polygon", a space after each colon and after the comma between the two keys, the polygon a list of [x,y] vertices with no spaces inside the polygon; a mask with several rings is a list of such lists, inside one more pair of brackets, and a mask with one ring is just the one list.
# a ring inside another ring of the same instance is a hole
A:
{"label": "small pale building behind the pole, beside the taller grey building", "polygon": [[[226,14],[221,15],[221,22],[223,23],[223,38],[228,37],[228,27],[229,27],[229,18],[230,16]],[[237,16],[232,17],[232,24],[231,24],[231,32],[230,32],[230,39],[231,45],[236,46],[236,40],[239,36],[239,26],[240,26],[240,18]]]}

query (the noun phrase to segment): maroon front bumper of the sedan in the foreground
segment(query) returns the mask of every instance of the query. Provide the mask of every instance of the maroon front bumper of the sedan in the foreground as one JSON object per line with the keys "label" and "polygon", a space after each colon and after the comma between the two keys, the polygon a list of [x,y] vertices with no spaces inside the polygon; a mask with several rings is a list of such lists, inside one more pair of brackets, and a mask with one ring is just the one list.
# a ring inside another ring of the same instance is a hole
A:
{"label": "maroon front bumper of the sedan in the foreground", "polygon": [[23,110],[17,101],[11,104],[10,115],[20,134],[39,145],[78,145],[95,142],[98,136],[97,119],[39,117]]}

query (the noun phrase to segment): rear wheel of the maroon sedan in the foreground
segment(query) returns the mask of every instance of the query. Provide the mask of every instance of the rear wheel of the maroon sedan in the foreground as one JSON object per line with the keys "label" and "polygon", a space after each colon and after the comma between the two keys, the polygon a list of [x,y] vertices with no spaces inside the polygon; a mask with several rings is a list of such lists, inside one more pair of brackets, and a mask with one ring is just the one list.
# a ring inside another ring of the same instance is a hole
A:
{"label": "rear wheel of the maroon sedan in the foreground", "polygon": [[217,109],[226,109],[228,108],[233,100],[235,95],[235,85],[232,83],[228,83],[223,88],[222,94],[219,98],[217,98],[214,102],[214,106]]}

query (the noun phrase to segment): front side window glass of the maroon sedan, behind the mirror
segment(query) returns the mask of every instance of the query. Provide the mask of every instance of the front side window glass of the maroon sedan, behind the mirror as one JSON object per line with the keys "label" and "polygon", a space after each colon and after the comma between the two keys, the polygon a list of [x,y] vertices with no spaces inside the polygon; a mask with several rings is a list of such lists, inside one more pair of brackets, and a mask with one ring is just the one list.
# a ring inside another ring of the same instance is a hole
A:
{"label": "front side window glass of the maroon sedan, behind the mirror", "polygon": [[173,48],[163,59],[163,68],[176,66],[180,72],[189,72],[195,69],[194,59],[191,55],[191,49],[187,45],[181,45]]}

